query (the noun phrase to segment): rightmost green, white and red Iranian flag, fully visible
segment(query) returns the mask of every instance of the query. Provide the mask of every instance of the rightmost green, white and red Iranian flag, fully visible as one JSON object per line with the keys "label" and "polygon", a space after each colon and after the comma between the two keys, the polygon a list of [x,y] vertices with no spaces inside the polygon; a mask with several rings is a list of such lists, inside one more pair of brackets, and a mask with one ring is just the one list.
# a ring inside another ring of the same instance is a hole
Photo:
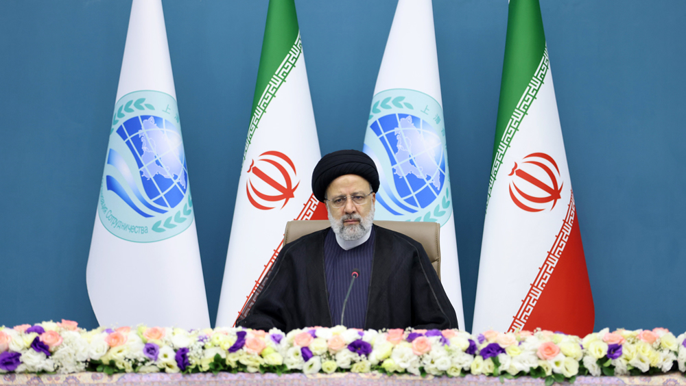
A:
{"label": "rightmost green, white and red Iranian flag, fully visible", "polygon": [[541,8],[509,7],[473,331],[584,336],[593,296]]}

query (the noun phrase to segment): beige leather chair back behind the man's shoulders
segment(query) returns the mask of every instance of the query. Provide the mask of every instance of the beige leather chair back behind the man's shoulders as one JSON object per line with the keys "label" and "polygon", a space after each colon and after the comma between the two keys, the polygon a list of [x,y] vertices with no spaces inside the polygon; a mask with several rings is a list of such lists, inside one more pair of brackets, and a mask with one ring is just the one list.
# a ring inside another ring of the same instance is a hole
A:
{"label": "beige leather chair back behind the man's shoulders", "polygon": [[[375,220],[379,227],[390,229],[412,237],[420,242],[429,255],[429,261],[434,266],[438,279],[440,279],[440,225],[438,222],[411,222],[411,221],[382,221]],[[300,237],[312,232],[320,231],[331,226],[329,220],[293,220],[286,223],[283,233],[283,244],[298,240]]]}

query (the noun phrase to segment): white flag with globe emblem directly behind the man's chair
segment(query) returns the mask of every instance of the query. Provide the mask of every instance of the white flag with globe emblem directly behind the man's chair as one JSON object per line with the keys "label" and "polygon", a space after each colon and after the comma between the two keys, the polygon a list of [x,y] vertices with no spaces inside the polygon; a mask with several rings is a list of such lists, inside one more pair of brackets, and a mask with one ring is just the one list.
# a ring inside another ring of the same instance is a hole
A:
{"label": "white flag with globe emblem directly behind the man's chair", "polygon": [[399,0],[369,112],[377,220],[440,224],[440,281],[464,329],[431,0]]}

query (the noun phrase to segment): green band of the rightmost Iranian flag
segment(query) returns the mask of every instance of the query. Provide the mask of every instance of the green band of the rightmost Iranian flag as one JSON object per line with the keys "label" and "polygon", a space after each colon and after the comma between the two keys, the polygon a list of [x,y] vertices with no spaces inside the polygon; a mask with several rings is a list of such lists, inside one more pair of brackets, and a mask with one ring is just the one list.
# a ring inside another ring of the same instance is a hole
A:
{"label": "green band of the rightmost Iranian flag", "polygon": [[[526,94],[535,97],[538,86],[531,90],[532,83],[541,76],[545,76],[548,68],[547,51],[545,49],[545,34],[539,0],[511,0],[508,10],[508,31],[505,40],[505,58],[503,60],[503,76],[500,84],[500,100],[498,103],[498,117],[495,125],[495,142],[493,144],[493,159],[491,162],[490,190],[493,188],[495,177],[499,169],[504,152],[509,147],[514,133],[506,133],[508,127],[512,131],[510,121],[517,118],[518,112],[525,113],[529,103],[517,109]],[[541,73],[541,71],[544,71]],[[543,80],[543,77],[540,77]],[[535,86],[535,85],[534,85]],[[532,93],[533,91],[533,93]],[[523,116],[519,117],[523,118]],[[519,125],[517,119],[516,128]],[[499,151],[500,149],[500,151]],[[486,203],[488,209],[488,203]]]}

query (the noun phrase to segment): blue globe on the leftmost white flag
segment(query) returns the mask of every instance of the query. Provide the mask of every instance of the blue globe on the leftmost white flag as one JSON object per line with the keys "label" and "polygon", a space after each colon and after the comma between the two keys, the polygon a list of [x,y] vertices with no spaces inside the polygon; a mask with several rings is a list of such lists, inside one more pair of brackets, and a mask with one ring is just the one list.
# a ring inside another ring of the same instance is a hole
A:
{"label": "blue globe on the leftmost white flag", "polygon": [[[174,124],[158,116],[136,116],[126,120],[116,132],[137,168],[131,170],[124,157],[110,148],[107,163],[115,166],[123,179],[106,175],[108,190],[145,218],[164,214],[183,201],[188,190],[188,173],[182,138]],[[133,176],[143,185],[145,196]]]}

